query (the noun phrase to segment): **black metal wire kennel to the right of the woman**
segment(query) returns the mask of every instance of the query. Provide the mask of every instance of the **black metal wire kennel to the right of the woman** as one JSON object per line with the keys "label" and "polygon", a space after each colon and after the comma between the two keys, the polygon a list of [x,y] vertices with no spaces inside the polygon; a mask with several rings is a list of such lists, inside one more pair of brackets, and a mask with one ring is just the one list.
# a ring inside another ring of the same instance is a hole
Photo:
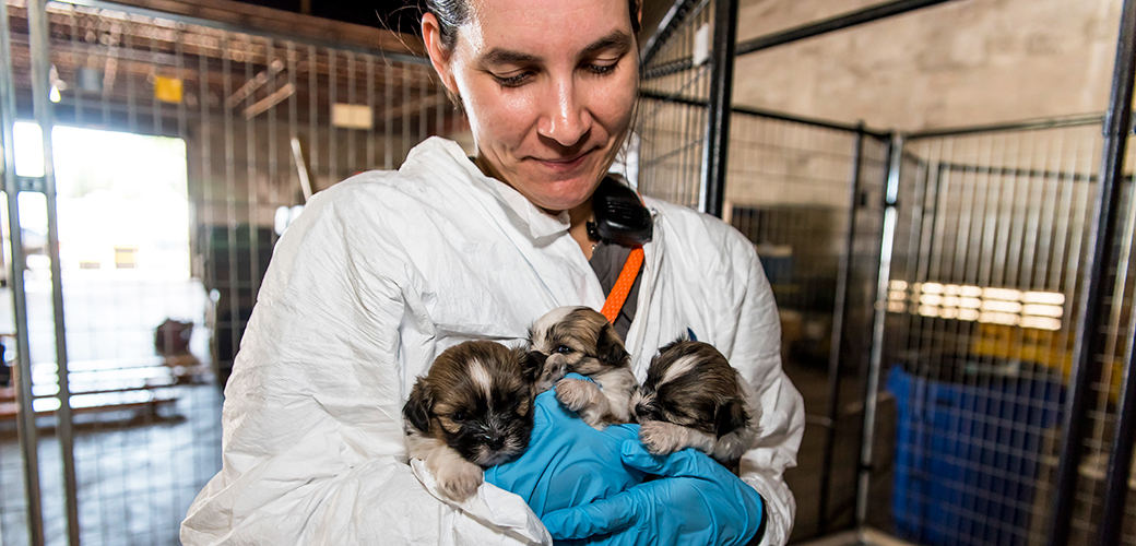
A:
{"label": "black metal wire kennel to the right of the woman", "polygon": [[900,134],[713,87],[735,54],[938,3],[724,48],[732,2],[677,2],[644,56],[640,187],[758,249],[808,386],[794,539],[1133,544],[1133,2],[1103,114]]}

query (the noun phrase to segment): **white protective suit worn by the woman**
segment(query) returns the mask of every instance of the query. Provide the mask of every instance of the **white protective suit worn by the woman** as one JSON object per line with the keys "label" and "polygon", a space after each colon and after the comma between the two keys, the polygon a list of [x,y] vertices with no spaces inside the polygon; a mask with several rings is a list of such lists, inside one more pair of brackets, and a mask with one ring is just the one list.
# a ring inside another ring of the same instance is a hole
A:
{"label": "white protective suit worn by the woman", "polygon": [[[648,199],[638,309],[642,380],[690,328],[760,393],[761,445],[743,478],[766,499],[766,540],[796,506],[804,409],[780,367],[780,325],[753,245],[722,221]],[[604,295],[568,234],[442,138],[398,171],[317,194],[273,254],[225,390],[224,468],[182,523],[186,545],[551,544],[520,497],[483,485],[460,506],[407,464],[402,405],[434,356],[467,339],[516,345],[546,311]]]}

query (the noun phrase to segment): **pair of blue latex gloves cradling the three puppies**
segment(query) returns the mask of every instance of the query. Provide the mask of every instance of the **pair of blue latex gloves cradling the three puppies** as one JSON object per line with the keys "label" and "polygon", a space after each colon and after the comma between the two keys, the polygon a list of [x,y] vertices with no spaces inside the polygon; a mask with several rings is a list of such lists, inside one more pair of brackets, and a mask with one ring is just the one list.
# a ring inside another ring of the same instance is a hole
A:
{"label": "pair of blue latex gloves cradling the three puppies", "polygon": [[637,425],[598,431],[551,390],[533,420],[528,451],[485,480],[525,498],[558,544],[741,545],[763,521],[761,496],[701,452],[651,455]]}

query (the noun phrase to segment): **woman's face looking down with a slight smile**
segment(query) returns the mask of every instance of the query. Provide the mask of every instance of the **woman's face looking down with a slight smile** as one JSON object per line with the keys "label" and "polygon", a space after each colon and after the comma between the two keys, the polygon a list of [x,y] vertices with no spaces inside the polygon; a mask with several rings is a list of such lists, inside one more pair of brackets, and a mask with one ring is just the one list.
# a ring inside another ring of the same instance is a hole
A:
{"label": "woman's face looking down with a slight smile", "polygon": [[429,14],[423,31],[434,67],[461,96],[478,162],[545,210],[584,203],[635,103],[638,56],[627,1],[468,2],[452,51],[442,48]]}

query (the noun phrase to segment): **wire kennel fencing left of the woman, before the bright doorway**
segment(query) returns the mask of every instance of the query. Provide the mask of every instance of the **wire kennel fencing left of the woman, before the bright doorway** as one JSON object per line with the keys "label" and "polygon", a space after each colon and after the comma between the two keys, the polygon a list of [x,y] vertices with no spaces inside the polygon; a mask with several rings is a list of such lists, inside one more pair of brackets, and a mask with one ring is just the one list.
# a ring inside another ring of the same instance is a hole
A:
{"label": "wire kennel fencing left of the woman, before the bright doorway", "polygon": [[393,33],[164,6],[0,5],[6,546],[178,544],[279,232],[312,192],[463,131]]}

